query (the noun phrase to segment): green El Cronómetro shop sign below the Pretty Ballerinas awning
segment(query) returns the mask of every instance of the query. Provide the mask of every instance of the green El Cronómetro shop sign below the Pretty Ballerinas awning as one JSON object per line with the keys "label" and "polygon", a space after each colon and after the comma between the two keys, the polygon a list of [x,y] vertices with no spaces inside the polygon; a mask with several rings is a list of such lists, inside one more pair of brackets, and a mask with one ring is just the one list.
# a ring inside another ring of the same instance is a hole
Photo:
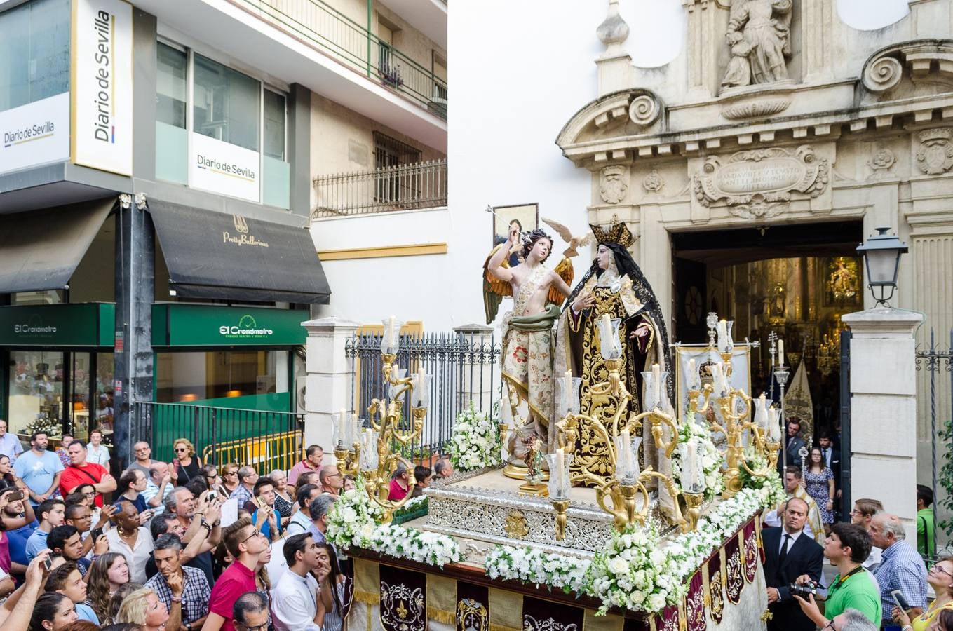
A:
{"label": "green El Cron\u00f3metro shop sign below the Pretty Ballerinas awning", "polygon": [[304,309],[152,305],[152,346],[298,346]]}

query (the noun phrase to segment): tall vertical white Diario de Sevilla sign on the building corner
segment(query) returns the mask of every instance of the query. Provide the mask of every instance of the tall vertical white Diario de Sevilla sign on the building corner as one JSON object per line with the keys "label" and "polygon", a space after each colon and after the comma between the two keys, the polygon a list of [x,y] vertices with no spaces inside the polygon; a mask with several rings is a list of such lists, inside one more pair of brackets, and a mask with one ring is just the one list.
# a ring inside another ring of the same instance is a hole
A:
{"label": "tall vertical white Diario de Sevilla sign on the building corner", "polygon": [[72,161],[132,175],[132,5],[73,0]]}

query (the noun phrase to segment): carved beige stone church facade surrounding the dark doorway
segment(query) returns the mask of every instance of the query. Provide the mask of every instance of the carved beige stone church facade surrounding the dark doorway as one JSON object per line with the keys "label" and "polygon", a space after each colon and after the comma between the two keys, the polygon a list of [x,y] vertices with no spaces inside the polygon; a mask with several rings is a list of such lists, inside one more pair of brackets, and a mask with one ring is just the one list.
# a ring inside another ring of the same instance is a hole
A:
{"label": "carved beige stone church facade surrounding the dark doorway", "polygon": [[[809,253],[812,234],[820,243],[848,224],[861,238],[889,226],[910,247],[892,306],[926,315],[918,343],[930,328],[947,339],[953,2],[911,0],[907,16],[878,31],[843,24],[830,0],[682,4],[679,56],[641,69],[622,51],[628,27],[618,0],[609,1],[598,28],[597,98],[557,139],[592,173],[590,222],[628,222],[639,237],[634,256],[670,322],[687,299],[675,277],[679,235],[711,235],[717,251],[731,247],[720,242],[724,231],[801,227]],[[852,310],[872,306],[860,289]],[[805,306],[804,318],[812,314]],[[918,478],[929,484],[933,437],[920,378]],[[941,390],[942,422],[950,402],[948,386]],[[854,428],[862,431],[862,419]]]}

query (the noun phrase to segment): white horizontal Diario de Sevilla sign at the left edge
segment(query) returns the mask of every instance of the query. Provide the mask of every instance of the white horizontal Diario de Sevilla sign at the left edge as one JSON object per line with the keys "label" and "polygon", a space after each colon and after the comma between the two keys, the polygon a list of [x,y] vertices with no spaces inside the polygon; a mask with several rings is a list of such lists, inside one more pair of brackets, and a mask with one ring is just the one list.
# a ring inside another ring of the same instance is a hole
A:
{"label": "white horizontal Diario de Sevilla sign at the left edge", "polygon": [[0,173],[70,159],[70,93],[0,112]]}

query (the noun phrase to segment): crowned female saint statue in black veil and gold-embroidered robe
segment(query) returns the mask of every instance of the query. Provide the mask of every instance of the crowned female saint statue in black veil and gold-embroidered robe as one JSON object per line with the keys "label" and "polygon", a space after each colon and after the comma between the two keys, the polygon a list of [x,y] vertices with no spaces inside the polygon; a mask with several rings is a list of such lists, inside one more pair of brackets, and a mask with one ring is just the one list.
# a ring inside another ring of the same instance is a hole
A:
{"label": "crowned female saint statue in black veil and gold-embroidered robe", "polygon": [[[591,228],[598,242],[596,260],[569,295],[559,317],[556,374],[572,371],[573,377],[581,377],[579,413],[596,417],[608,426],[618,409],[614,397],[589,395],[593,385],[609,377],[599,353],[598,318],[608,314],[621,320],[618,336],[623,353],[619,377],[633,396],[630,414],[643,411],[641,372],[658,363],[662,371],[671,374],[671,360],[659,301],[627,249],[633,242],[632,233],[624,222],[608,229],[595,225]],[[666,392],[668,400],[672,400],[671,380],[666,384]],[[643,440],[647,454],[654,444],[651,433]],[[574,453],[573,471],[585,471],[603,480],[613,475],[607,445],[588,425],[579,427]],[[654,461],[650,458],[644,464]]]}

